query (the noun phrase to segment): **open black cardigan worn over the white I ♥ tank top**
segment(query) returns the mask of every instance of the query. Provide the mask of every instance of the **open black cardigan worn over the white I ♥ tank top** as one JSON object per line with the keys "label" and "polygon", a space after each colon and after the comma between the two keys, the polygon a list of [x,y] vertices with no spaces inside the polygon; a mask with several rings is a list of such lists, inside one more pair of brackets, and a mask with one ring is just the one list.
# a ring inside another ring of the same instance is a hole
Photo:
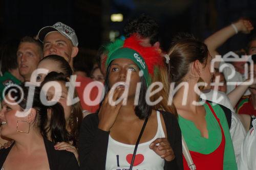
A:
{"label": "open black cardigan worn over the white I \u2665 tank top", "polygon": [[[160,112],[164,119],[168,141],[175,154],[174,160],[164,162],[164,170],[182,170],[182,143],[178,120],[171,113]],[[105,169],[110,132],[98,129],[98,123],[97,113],[89,114],[82,120],[78,147],[80,169]]]}

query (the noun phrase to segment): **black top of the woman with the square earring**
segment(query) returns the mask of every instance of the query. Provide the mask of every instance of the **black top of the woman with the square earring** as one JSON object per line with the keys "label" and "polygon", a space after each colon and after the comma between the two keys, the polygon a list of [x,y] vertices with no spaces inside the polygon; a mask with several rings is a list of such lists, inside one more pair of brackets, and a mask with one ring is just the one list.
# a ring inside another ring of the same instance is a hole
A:
{"label": "black top of the woman with the square earring", "polygon": [[[54,149],[54,143],[44,138],[46,153],[50,165],[50,170],[65,170],[65,169],[79,169],[79,165],[75,155],[68,151],[59,151]],[[3,166],[11,147],[0,150],[0,168]]]}

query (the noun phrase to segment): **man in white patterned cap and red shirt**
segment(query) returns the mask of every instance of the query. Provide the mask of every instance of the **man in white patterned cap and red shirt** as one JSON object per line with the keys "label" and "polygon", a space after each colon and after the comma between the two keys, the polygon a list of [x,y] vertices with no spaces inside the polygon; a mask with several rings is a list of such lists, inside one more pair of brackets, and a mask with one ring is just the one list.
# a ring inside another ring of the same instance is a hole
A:
{"label": "man in white patterned cap and red shirt", "polygon": [[[44,43],[44,57],[49,55],[58,55],[65,58],[70,66],[73,68],[73,58],[78,53],[78,39],[75,31],[65,25],[62,22],[56,22],[53,26],[47,26],[42,28],[38,32],[38,39]],[[83,100],[83,93],[86,92],[90,96],[90,100],[97,98],[98,90],[97,87],[91,89],[91,91],[84,91],[86,86],[93,80],[87,77],[77,76],[76,82],[80,82],[80,86],[76,87],[78,97],[82,109],[94,113],[97,111],[98,105],[91,105],[90,103]]]}

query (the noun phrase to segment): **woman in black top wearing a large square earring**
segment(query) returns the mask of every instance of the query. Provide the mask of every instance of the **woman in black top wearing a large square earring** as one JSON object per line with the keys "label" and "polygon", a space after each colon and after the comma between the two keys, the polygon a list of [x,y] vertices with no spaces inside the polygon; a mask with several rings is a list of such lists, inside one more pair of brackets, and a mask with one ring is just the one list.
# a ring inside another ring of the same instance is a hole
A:
{"label": "woman in black top wearing a large square earring", "polygon": [[79,169],[75,156],[67,151],[55,150],[54,143],[45,135],[43,127],[47,123],[48,112],[51,112],[62,123],[52,135],[59,136],[62,141],[67,139],[64,111],[60,104],[43,105],[39,87],[34,87],[32,95],[27,87],[23,87],[22,91],[10,87],[2,105],[1,135],[14,142],[9,148],[0,150],[1,169]]}

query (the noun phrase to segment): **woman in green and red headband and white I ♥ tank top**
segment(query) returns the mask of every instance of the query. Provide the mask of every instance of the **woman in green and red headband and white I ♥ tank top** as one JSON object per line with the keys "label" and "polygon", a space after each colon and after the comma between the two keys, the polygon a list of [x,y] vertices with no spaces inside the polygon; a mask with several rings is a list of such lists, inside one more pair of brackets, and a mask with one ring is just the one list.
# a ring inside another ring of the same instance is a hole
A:
{"label": "woman in green and red headband and white I \u2665 tank top", "polygon": [[99,113],[83,119],[81,169],[183,169],[176,117],[152,109],[146,101],[151,77],[163,65],[162,58],[157,48],[139,43],[133,35],[106,47],[106,94]]}

